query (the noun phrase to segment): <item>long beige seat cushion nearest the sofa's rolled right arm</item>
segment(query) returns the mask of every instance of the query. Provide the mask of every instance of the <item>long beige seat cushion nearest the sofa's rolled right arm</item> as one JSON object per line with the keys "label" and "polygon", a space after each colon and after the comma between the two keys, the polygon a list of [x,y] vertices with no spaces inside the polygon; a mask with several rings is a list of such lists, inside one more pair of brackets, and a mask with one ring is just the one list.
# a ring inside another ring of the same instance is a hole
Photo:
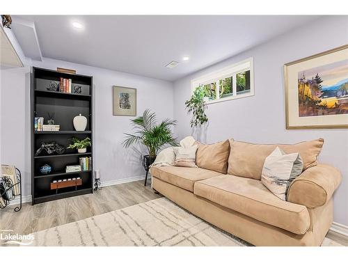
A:
{"label": "long beige seat cushion nearest the sofa's rolled right arm", "polygon": [[260,180],[221,175],[196,182],[193,193],[298,235],[305,234],[310,227],[310,216],[305,206],[280,200]]}

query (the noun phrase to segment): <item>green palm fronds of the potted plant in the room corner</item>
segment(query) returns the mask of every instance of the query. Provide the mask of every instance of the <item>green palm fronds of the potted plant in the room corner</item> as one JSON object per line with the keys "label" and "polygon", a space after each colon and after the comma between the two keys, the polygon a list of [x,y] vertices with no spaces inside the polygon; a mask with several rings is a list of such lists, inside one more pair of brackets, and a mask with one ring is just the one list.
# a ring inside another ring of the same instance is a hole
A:
{"label": "green palm fronds of the potted plant in the room corner", "polygon": [[149,156],[156,157],[157,151],[166,144],[177,146],[177,139],[173,137],[171,127],[176,125],[176,120],[166,119],[157,125],[156,114],[146,109],[143,116],[132,119],[134,134],[125,134],[122,144],[125,148],[140,142],[148,148]]}

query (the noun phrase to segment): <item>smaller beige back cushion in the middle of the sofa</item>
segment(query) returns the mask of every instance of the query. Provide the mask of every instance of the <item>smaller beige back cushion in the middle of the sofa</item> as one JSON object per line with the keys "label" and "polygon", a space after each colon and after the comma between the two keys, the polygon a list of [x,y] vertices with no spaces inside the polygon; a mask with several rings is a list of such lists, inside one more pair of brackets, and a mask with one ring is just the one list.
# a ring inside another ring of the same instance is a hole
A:
{"label": "smaller beige back cushion in the middle of the sofa", "polygon": [[230,155],[228,140],[214,144],[199,144],[196,152],[196,165],[210,171],[226,174]]}

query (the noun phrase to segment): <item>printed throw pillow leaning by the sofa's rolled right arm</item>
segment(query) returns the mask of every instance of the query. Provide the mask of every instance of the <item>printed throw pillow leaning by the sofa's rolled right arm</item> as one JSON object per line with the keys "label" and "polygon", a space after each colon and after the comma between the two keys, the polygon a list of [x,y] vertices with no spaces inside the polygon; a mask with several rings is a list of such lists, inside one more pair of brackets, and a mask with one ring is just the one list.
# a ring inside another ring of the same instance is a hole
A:
{"label": "printed throw pillow leaning by the sofa's rolled right arm", "polygon": [[292,180],[301,175],[303,161],[299,153],[285,154],[279,147],[264,160],[261,182],[271,193],[286,200]]}

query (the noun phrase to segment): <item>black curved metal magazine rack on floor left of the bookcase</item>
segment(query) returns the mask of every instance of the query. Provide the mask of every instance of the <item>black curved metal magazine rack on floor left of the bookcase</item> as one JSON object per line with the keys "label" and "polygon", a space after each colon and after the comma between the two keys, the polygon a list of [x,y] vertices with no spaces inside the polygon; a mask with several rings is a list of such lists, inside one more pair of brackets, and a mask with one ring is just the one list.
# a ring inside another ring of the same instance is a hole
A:
{"label": "black curved metal magazine rack on floor left of the bookcase", "polygon": [[[15,207],[15,212],[22,209],[22,174],[18,168],[15,168],[17,182],[13,184],[13,180],[6,176],[0,176],[0,209],[6,207],[11,200],[19,196],[19,206]],[[15,195],[14,187],[19,185],[19,193]]]}

